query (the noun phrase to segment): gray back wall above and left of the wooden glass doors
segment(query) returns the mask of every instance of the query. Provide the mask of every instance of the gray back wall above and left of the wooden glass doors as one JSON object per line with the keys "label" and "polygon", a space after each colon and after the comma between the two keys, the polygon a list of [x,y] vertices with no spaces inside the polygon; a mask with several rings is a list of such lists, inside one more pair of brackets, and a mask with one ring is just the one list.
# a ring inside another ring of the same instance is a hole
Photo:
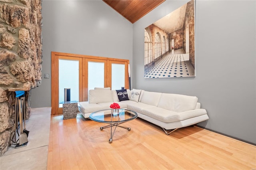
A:
{"label": "gray back wall above and left of the wooden glass doors", "polygon": [[[51,51],[129,59],[132,24],[100,0],[43,0],[42,76],[51,75]],[[31,107],[51,106],[51,79],[31,90]]]}

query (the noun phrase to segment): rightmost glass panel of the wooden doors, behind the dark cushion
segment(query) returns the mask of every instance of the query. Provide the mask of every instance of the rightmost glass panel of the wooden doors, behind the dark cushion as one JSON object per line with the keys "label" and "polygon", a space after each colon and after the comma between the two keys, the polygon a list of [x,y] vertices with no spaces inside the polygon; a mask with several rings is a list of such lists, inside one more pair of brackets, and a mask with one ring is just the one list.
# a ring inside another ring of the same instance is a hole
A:
{"label": "rightmost glass panel of the wooden doors, behind the dark cushion", "polygon": [[121,87],[124,87],[125,65],[112,63],[111,67],[112,67],[111,89],[120,90]]}

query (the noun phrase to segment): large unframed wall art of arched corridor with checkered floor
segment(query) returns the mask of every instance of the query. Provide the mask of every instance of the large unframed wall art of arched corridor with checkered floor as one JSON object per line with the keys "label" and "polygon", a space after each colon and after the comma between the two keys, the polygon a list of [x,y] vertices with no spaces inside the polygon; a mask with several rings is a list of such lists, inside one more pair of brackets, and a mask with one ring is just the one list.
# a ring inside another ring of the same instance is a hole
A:
{"label": "large unframed wall art of arched corridor with checkered floor", "polygon": [[144,30],[144,78],[195,76],[194,0]]}

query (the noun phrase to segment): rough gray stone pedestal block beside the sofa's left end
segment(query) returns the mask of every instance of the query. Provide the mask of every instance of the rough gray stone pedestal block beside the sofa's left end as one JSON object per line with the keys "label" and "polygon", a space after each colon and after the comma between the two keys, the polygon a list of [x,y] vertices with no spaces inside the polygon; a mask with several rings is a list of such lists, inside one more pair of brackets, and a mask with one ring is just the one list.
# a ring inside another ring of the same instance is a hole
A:
{"label": "rough gray stone pedestal block beside the sofa's left end", "polygon": [[63,119],[74,119],[78,112],[77,103],[70,101],[63,102]]}

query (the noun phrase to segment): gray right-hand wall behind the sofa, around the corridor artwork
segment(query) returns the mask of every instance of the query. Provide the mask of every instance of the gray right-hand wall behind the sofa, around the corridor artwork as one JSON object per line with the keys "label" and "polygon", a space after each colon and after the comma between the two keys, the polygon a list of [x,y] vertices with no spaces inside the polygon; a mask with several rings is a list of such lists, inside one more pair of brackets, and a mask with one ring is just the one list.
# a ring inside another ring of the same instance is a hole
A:
{"label": "gray right-hand wall behind the sofa, around the corridor artwork", "polygon": [[188,1],[165,1],[133,24],[133,87],[198,97],[198,125],[256,144],[256,1],[196,1],[196,77],[144,79],[144,28]]}

